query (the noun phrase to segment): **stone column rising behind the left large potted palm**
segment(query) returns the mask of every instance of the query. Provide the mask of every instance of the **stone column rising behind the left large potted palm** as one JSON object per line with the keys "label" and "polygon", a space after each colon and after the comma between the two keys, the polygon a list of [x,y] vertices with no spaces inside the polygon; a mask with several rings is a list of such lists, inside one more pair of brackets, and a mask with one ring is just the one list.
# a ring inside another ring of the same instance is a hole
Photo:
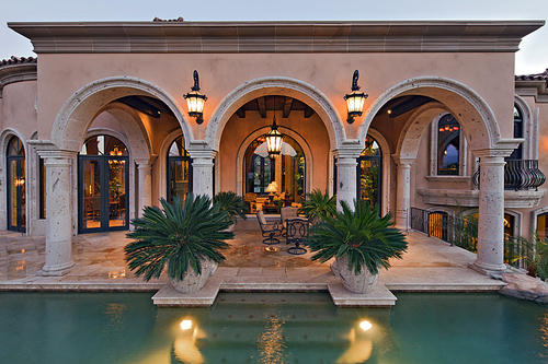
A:
{"label": "stone column rising behind the left large potted palm", "polygon": [[[192,144],[191,144],[192,148]],[[189,149],[192,157],[192,192],[213,199],[213,158],[216,152],[206,149]]]}

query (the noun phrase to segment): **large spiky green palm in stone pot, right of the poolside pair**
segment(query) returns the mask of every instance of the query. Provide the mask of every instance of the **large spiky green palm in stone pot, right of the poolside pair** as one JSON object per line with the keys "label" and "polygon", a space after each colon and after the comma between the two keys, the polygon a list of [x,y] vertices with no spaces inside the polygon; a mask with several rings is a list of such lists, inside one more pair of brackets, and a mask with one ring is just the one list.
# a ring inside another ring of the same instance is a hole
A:
{"label": "large spiky green palm in stone pot, right of the poolside pair", "polygon": [[315,253],[312,260],[326,262],[335,258],[332,270],[344,287],[368,293],[381,268],[390,268],[390,258],[401,259],[407,251],[406,236],[392,227],[391,213],[379,216],[378,206],[354,201],[354,210],[341,201],[342,211],[310,227],[306,245]]}

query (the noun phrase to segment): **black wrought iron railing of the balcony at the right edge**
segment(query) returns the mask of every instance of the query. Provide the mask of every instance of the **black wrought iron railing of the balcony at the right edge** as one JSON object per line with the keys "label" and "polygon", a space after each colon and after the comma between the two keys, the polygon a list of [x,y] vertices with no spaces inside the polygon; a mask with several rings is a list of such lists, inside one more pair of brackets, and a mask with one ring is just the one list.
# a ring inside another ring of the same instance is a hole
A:
{"label": "black wrought iron railing of the balcony at the right edge", "polygon": [[[476,171],[472,180],[479,188],[479,173]],[[546,176],[538,169],[536,160],[510,160],[504,166],[504,189],[507,190],[538,190],[538,187],[546,181]]]}

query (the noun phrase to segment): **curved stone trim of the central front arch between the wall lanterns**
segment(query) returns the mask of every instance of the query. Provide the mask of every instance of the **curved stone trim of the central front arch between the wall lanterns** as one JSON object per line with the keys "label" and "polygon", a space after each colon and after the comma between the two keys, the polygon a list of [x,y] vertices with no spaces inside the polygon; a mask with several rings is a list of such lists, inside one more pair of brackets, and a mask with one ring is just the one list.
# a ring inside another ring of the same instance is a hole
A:
{"label": "curved stone trim of the central front arch between the wall lanterns", "polygon": [[346,139],[341,116],[321,91],[300,80],[272,77],[248,81],[226,95],[207,122],[205,142],[218,151],[222,130],[230,117],[246,103],[266,95],[289,96],[313,108],[328,130],[331,150],[336,149]]}

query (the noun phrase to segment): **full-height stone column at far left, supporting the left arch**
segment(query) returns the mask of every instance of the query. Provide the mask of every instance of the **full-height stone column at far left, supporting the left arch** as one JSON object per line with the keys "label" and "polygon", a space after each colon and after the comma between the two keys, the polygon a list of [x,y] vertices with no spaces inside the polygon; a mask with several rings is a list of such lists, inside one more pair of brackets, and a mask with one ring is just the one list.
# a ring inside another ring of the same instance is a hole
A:
{"label": "full-height stone column at far left, supporting the left arch", "polygon": [[72,260],[70,167],[76,152],[38,151],[46,166],[46,265],[38,275],[62,275]]}

